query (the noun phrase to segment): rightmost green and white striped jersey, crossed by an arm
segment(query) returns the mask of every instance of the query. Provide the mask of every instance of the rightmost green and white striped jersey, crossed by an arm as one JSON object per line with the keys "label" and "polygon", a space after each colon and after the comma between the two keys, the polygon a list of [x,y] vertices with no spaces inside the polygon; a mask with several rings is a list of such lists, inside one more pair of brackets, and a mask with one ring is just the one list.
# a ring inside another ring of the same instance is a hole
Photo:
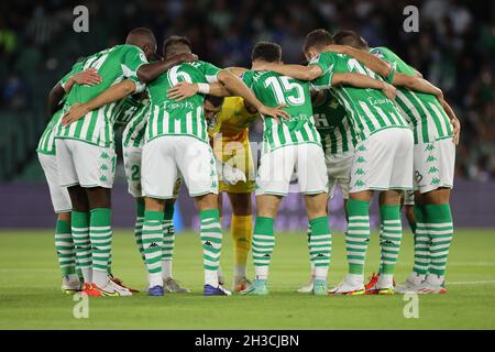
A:
{"label": "rightmost green and white striped jersey, crossed by an arm", "polygon": [[[417,75],[413,67],[386,47],[372,48],[371,53],[392,64],[397,73],[409,76]],[[430,143],[452,136],[450,119],[436,96],[416,92],[404,87],[397,88],[396,102],[403,116],[413,127],[415,144]]]}

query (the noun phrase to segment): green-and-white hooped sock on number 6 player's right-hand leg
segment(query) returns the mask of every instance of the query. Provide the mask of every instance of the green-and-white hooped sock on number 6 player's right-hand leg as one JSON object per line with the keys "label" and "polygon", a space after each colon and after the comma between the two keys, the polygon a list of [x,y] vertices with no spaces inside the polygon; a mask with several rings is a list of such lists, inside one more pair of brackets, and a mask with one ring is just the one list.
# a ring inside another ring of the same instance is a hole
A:
{"label": "green-and-white hooped sock on number 6 player's right-hand leg", "polygon": [[202,243],[202,262],[205,268],[205,285],[218,286],[218,270],[222,249],[222,229],[218,209],[199,212],[201,220],[199,235]]}

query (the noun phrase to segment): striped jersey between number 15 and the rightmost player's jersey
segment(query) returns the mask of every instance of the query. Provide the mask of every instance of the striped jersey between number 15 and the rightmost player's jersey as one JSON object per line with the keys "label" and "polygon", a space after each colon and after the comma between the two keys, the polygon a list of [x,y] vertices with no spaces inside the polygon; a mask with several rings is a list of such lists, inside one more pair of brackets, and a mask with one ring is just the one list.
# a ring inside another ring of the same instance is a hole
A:
{"label": "striped jersey between number 15 and the rightmost player's jersey", "polygon": [[336,73],[355,73],[382,79],[355,58],[343,54],[321,53],[309,64],[318,65],[323,70],[323,75],[312,81],[314,88],[317,90],[332,89],[339,102],[348,111],[360,141],[385,129],[409,128],[395,103],[382,90],[350,86],[332,87],[332,77]]}

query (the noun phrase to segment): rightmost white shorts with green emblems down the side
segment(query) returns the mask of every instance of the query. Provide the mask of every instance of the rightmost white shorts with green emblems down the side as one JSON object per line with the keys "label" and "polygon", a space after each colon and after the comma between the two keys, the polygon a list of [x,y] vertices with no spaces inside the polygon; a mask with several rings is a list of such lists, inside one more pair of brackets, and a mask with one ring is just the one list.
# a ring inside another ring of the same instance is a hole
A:
{"label": "rightmost white shorts with green emblems down the side", "polygon": [[438,188],[452,188],[455,144],[452,139],[415,145],[415,189],[425,194]]}

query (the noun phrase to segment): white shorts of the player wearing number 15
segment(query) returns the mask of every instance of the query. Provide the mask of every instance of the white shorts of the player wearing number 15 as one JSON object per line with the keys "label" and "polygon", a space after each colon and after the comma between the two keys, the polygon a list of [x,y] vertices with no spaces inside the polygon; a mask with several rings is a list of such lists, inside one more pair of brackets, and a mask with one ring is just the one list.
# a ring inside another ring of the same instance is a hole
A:
{"label": "white shorts of the player wearing number 15", "polygon": [[262,155],[256,176],[256,196],[286,196],[294,173],[301,194],[328,193],[323,150],[317,144],[306,143],[283,146]]}

